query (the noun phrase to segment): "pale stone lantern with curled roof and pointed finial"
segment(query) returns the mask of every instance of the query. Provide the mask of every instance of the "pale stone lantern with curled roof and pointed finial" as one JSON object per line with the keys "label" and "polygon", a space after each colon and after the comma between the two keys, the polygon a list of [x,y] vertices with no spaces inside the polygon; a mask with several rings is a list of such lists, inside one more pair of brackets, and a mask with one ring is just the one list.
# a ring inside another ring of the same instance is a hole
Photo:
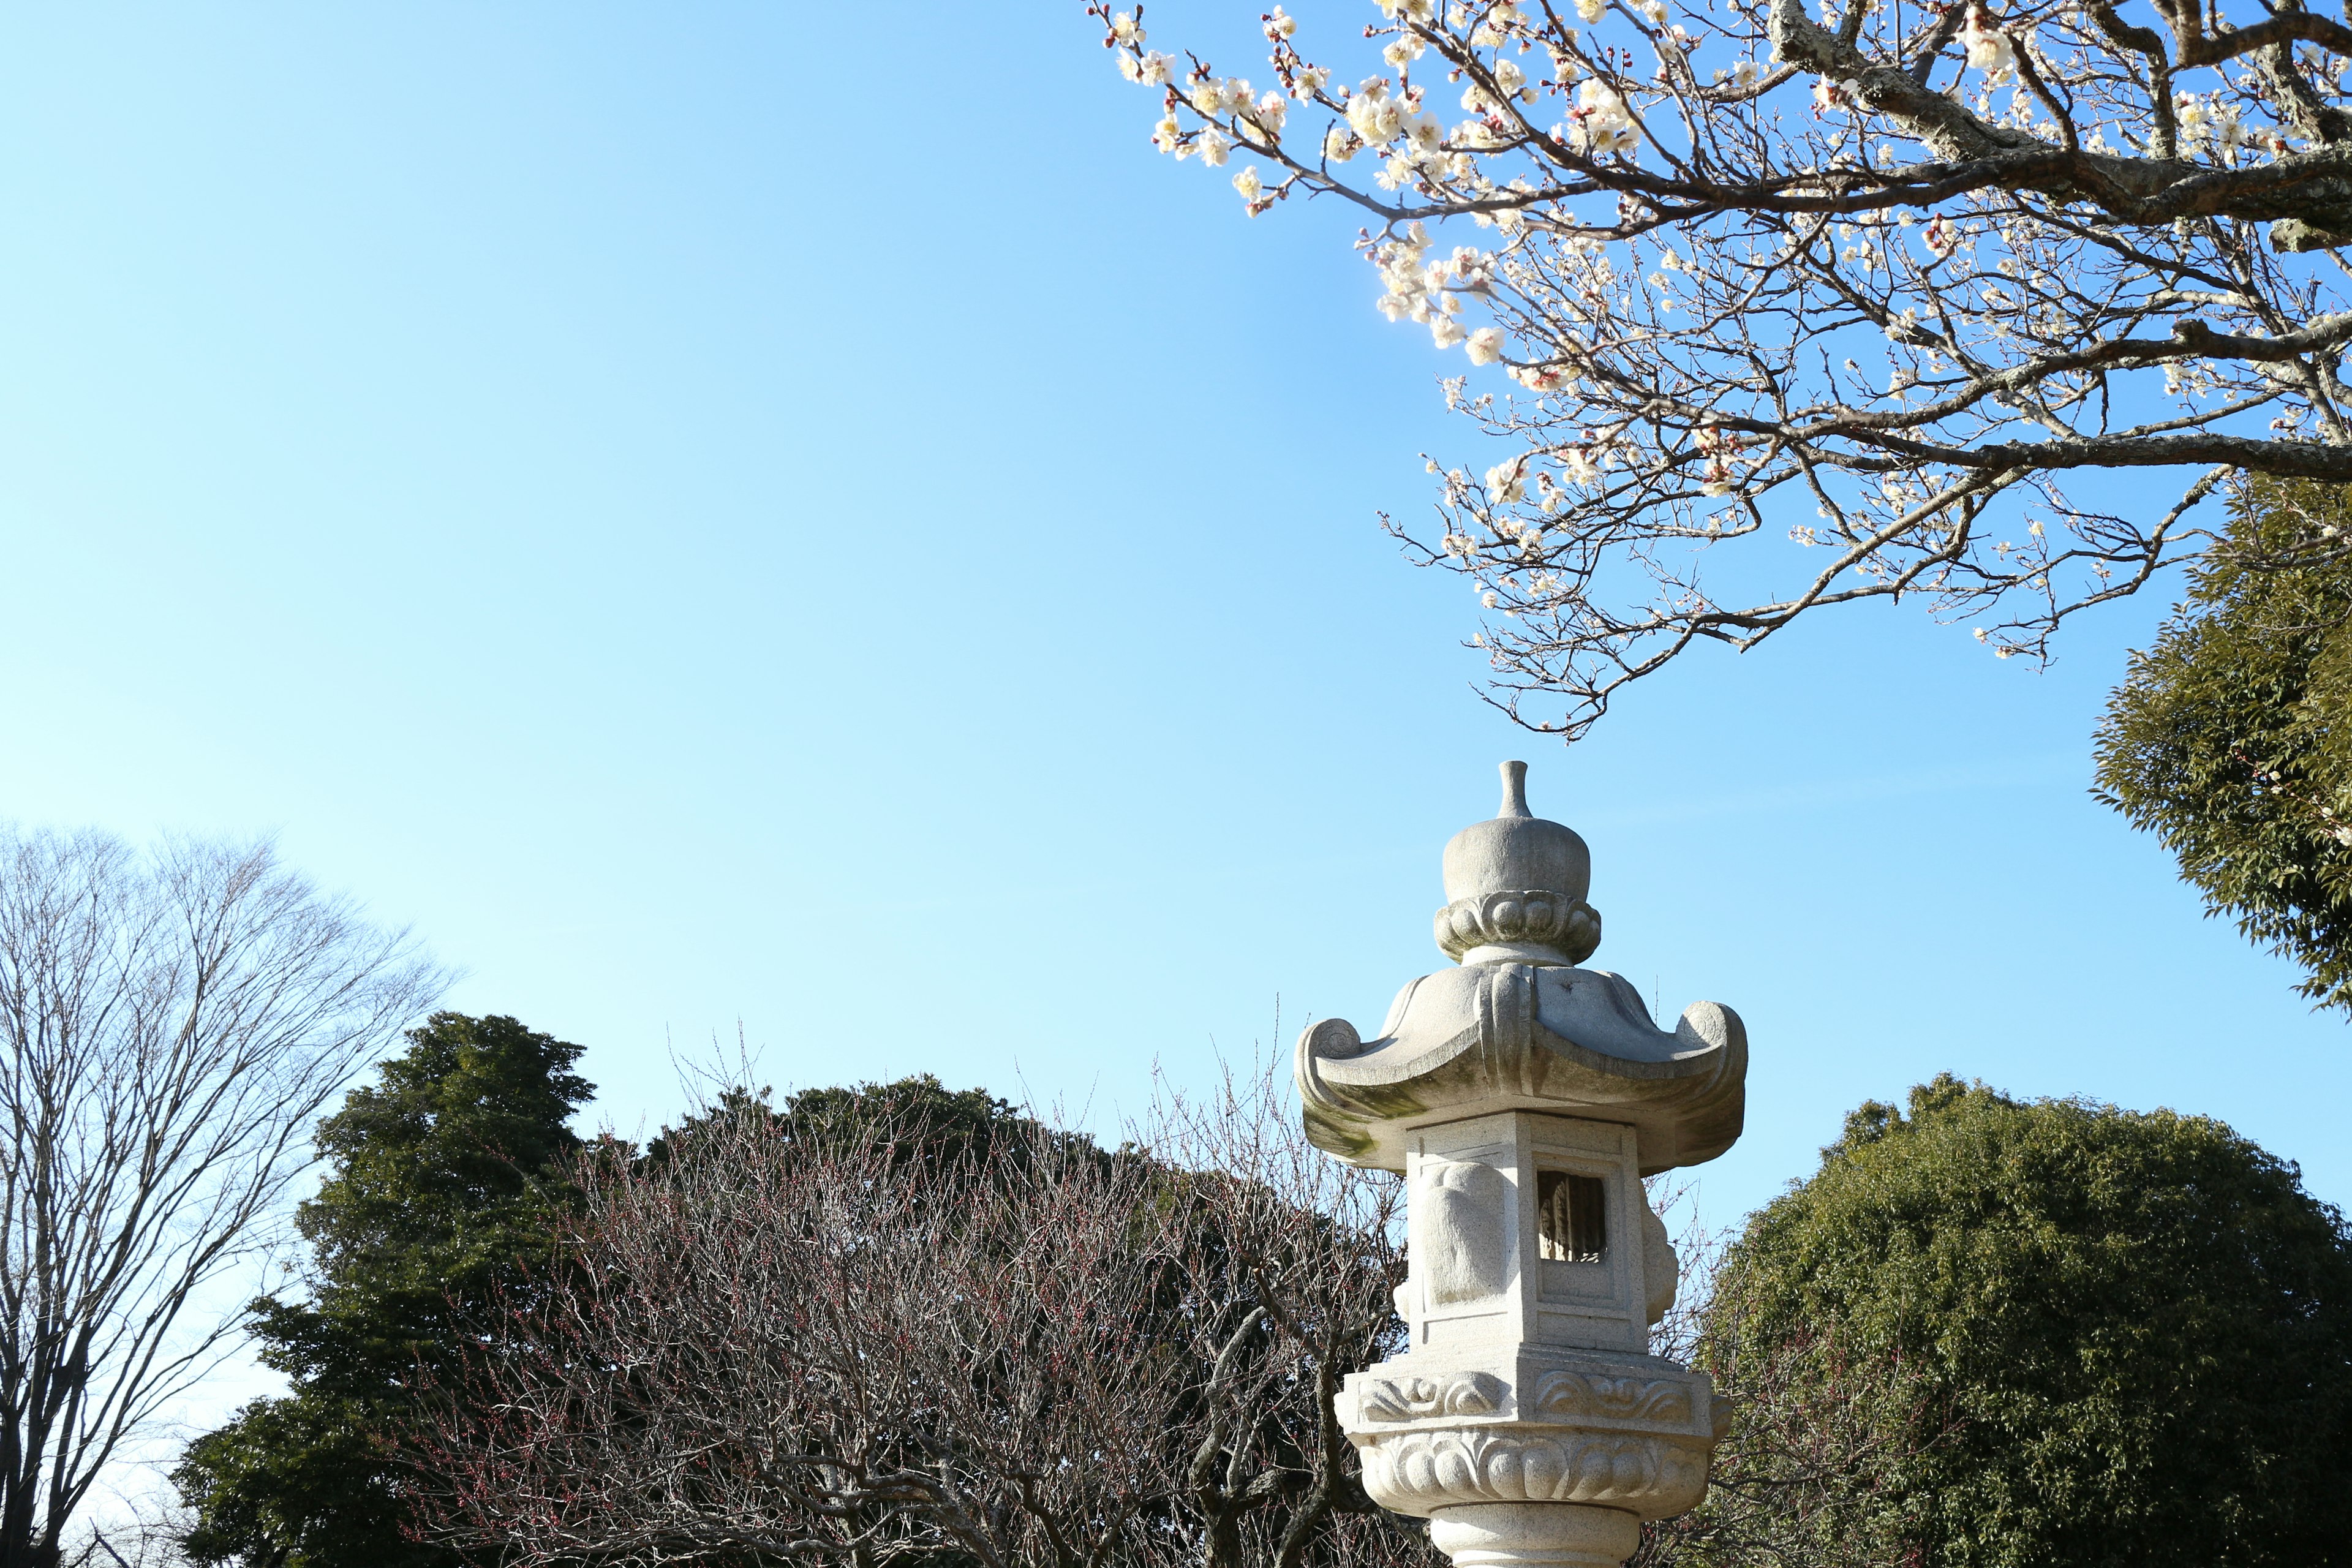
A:
{"label": "pale stone lantern with curled roof and pointed finial", "polygon": [[1430,1521],[1458,1568],[1613,1568],[1644,1519],[1708,1490],[1722,1401],[1649,1354],[1675,1251],[1642,1178],[1740,1135],[1748,1032],[1712,1001],[1672,1027],[1604,969],[1592,856],[1503,811],[1446,844],[1437,945],[1376,1039],[1298,1039],[1308,1138],[1406,1180],[1409,1347],[1348,1378],[1338,1418],[1383,1507]]}

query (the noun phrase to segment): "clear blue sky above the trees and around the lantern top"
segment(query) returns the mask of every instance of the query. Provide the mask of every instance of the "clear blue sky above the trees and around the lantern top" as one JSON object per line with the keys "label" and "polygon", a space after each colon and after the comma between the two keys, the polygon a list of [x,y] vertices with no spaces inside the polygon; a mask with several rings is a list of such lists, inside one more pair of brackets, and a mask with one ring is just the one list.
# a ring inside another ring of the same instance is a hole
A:
{"label": "clear blue sky above the trees and around the lantern top", "polygon": [[739,1023],[1115,1126],[1277,997],[1378,1023],[1517,755],[1595,961],[1748,1018],[1710,1218],[1938,1070],[2352,1199],[2345,1025],[2084,795],[2161,602],[2049,675],[1851,614],[1526,738],[1374,522],[1491,461],[1428,334],[1150,120],[1077,0],[9,9],[0,811],[280,835],[623,1128]]}

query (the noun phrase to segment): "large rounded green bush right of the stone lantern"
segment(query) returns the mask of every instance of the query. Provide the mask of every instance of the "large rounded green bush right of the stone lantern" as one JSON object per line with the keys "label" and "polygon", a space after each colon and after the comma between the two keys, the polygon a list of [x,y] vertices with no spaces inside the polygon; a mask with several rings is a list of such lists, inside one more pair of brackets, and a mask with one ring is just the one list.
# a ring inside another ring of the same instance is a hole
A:
{"label": "large rounded green bush right of the stone lantern", "polygon": [[1682,1561],[2352,1561],[2352,1234],[2218,1121],[1863,1105],[1700,1361],[1743,1408]]}

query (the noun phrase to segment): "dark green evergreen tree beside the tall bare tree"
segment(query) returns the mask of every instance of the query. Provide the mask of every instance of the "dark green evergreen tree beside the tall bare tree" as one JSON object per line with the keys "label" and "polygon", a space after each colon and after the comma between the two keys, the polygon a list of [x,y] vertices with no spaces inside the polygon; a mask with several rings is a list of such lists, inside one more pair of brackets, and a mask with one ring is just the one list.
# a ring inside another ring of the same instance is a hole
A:
{"label": "dark green evergreen tree beside the tall bare tree", "polygon": [[445,1568],[405,1537],[395,1455],[419,1366],[447,1366],[456,1314],[543,1260],[593,1086],[581,1048],[513,1018],[435,1013],[379,1081],[320,1124],[329,1175],[301,1208],[308,1300],[254,1302],[261,1361],[294,1392],[195,1439],[174,1483],[200,1563]]}

